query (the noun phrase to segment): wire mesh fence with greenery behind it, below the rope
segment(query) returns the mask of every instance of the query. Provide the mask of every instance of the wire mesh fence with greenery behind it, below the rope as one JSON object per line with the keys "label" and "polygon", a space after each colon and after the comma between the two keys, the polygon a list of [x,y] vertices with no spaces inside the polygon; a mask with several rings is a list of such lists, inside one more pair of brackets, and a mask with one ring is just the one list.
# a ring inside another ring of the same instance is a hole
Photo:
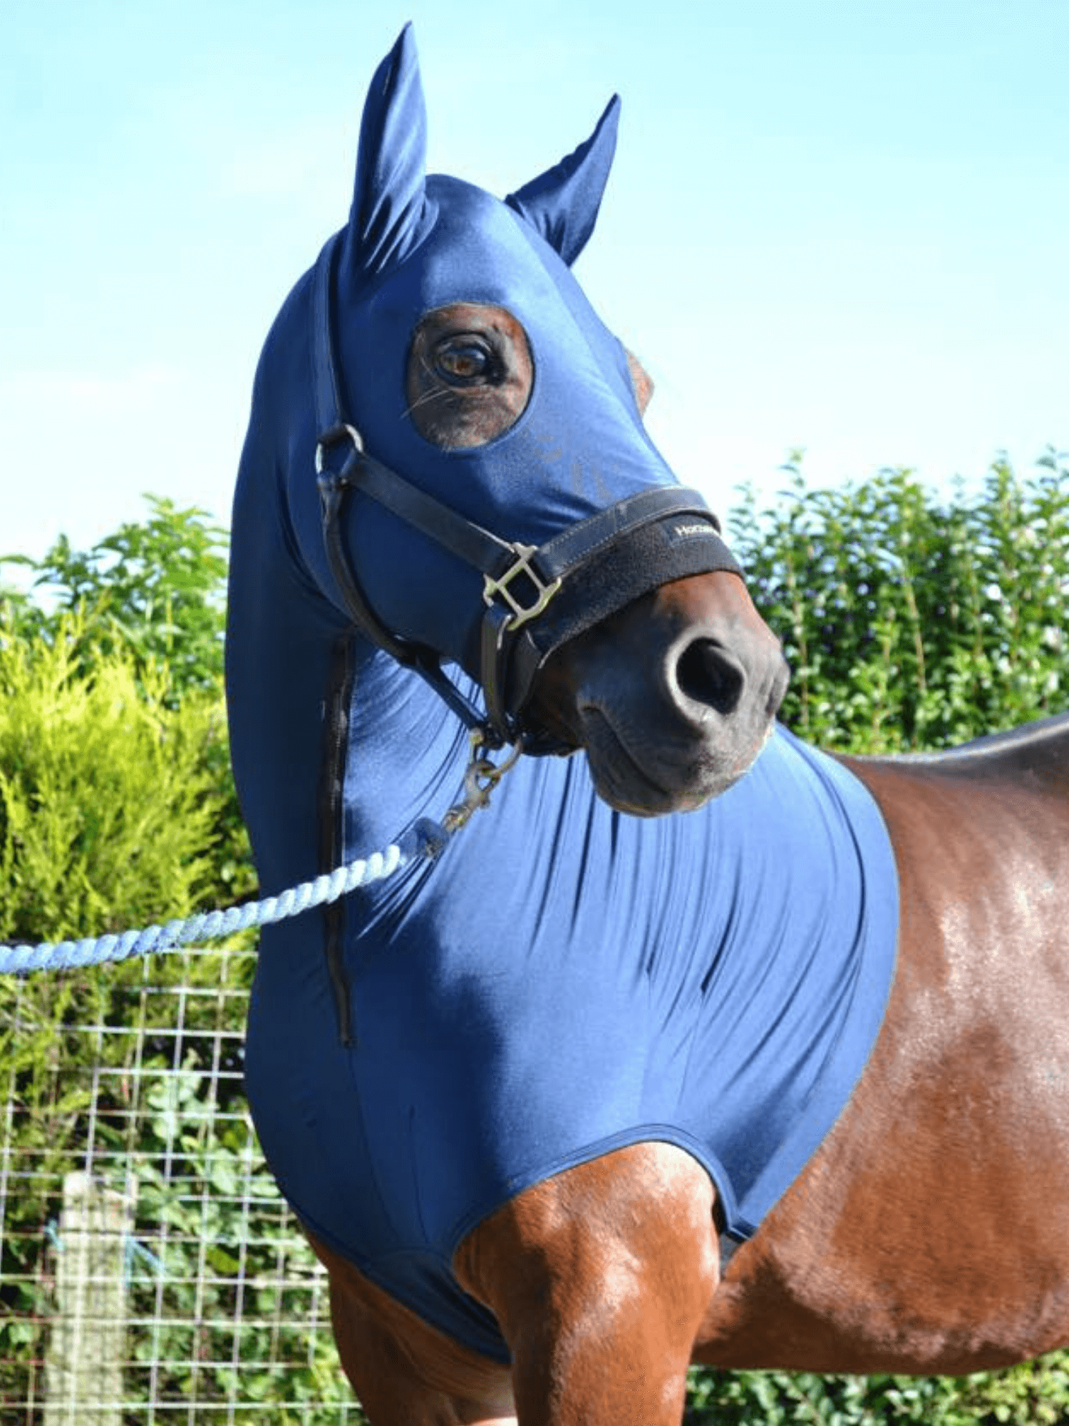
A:
{"label": "wire mesh fence with greenery behind it, below the rope", "polygon": [[3,1426],[356,1426],[241,1092],[254,953],[0,984]]}

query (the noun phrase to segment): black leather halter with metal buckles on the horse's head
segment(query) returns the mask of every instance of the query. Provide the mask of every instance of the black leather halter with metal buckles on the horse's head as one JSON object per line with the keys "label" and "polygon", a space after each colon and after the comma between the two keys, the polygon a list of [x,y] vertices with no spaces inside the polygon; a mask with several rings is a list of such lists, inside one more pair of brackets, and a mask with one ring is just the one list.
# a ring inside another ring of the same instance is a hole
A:
{"label": "black leather halter with metal buckles on the horse's head", "polygon": [[[741,569],[720,539],[716,515],[697,491],[684,486],[650,486],[536,548],[493,535],[376,461],[342,402],[331,302],[341,237],[335,234],[324,247],[312,277],[312,369],[324,542],[349,616],[372,643],[420,673],[487,747],[522,736],[526,752],[570,752],[525,720],[534,676],[553,650],[668,579],[714,569],[741,575]],[[336,471],[328,466],[335,452],[342,453]],[[393,633],[371,607],[342,538],[349,492],[371,496],[482,573],[483,607],[473,610],[470,622],[480,615],[477,677],[485,713],[446,676],[440,653]],[[663,532],[673,520],[677,530],[700,535],[700,552],[691,543],[690,552],[681,548],[666,562]]]}

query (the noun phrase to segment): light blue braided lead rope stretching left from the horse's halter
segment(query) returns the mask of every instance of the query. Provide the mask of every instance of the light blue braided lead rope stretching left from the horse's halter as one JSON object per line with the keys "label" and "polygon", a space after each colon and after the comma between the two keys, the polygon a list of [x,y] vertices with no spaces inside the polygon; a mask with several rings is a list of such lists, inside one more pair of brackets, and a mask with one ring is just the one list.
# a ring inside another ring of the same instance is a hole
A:
{"label": "light blue braided lead rope stretching left from the horse's halter", "polygon": [[393,843],[385,851],[373,851],[366,858],[349,861],[314,881],[302,881],[289,891],[265,897],[262,901],[232,906],[227,911],[200,911],[184,920],[168,921],[165,925],[148,925],[141,931],[123,931],[117,935],[98,935],[81,941],[43,941],[40,945],[0,945],[0,974],[17,975],[27,971],[68,970],[74,965],[124,961],[133,955],[220,941],[251,925],[272,925],[275,921],[285,921],[314,907],[336,901],[358,887],[385,881],[418,858],[436,857],[448,836],[446,829],[423,819],[401,844]]}

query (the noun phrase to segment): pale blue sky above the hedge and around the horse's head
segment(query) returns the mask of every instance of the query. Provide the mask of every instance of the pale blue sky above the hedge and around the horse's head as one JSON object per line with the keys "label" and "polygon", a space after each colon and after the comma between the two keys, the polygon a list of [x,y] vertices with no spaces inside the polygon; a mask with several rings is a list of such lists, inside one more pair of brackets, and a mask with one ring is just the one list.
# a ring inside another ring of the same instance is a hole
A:
{"label": "pale blue sky above the hedge and around the horse's head", "polygon": [[723,508],[1069,446],[1069,0],[6,0],[0,553],[141,492],[224,523],[267,328],[416,26],[430,167],[496,193],[623,97],[577,272]]}

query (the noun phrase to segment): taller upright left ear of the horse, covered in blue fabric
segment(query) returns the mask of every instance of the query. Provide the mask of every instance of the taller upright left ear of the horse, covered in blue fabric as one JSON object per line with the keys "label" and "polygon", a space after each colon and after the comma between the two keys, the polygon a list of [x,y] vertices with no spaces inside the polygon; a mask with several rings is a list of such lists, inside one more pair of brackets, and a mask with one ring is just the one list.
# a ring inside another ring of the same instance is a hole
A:
{"label": "taller upright left ear of the horse, covered in blue fabric", "polygon": [[412,26],[371,81],[361,121],[345,255],[361,277],[395,267],[433,224],[426,201],[426,104]]}

